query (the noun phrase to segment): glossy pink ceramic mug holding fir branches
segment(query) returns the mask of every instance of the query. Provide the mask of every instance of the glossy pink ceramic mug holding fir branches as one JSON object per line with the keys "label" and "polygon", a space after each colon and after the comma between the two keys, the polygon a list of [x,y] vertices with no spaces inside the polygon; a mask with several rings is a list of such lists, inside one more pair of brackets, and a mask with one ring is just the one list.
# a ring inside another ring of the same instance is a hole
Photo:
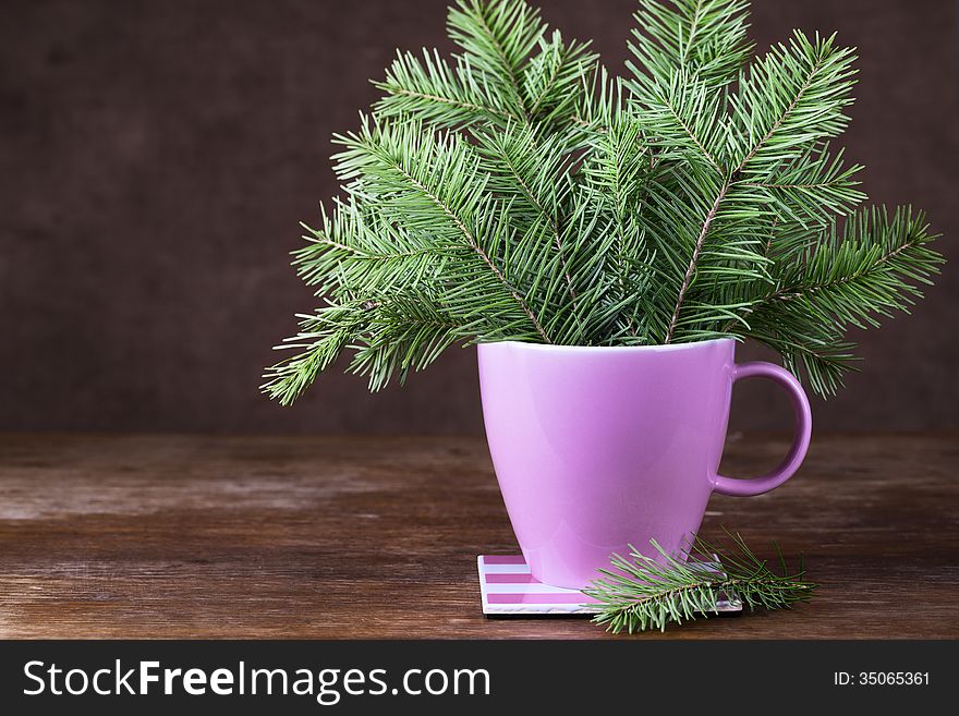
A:
{"label": "glossy pink ceramic mug holding fir branches", "polygon": [[[679,553],[709,495],[749,496],[797,471],[812,433],[809,400],[772,363],[735,362],[731,339],[591,348],[480,345],[489,452],[533,575],[581,588],[612,553],[655,538]],[[718,474],[732,384],[764,377],[796,410],[792,449],[768,475]]]}

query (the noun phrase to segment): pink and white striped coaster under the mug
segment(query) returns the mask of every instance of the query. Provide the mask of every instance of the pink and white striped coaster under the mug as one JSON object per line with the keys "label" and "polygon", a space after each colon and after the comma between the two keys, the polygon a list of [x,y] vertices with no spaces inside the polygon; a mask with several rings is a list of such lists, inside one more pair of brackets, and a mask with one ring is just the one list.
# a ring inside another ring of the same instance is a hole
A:
{"label": "pink and white striped coaster under the mug", "polygon": [[[522,556],[480,555],[480,594],[485,615],[592,615],[596,599],[579,590],[550,586],[530,573]],[[719,611],[742,611],[742,604],[720,600]]]}

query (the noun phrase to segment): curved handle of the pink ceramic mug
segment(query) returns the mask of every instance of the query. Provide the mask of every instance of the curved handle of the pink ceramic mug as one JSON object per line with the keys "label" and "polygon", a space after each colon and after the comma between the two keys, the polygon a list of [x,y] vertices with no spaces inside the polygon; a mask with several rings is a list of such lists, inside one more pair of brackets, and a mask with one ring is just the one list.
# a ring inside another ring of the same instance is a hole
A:
{"label": "curved handle of the pink ceramic mug", "polygon": [[809,398],[806,398],[799,380],[786,368],[763,361],[742,363],[733,368],[733,383],[740,378],[752,377],[767,378],[778,383],[789,393],[789,399],[792,401],[792,409],[796,413],[796,432],[793,434],[792,448],[790,448],[789,454],[779,463],[778,468],[762,477],[736,480],[717,474],[713,482],[713,489],[720,495],[751,497],[776,489],[799,470],[799,465],[802,464],[806,450],[809,450],[810,438],[813,432],[813,416],[810,410]]}

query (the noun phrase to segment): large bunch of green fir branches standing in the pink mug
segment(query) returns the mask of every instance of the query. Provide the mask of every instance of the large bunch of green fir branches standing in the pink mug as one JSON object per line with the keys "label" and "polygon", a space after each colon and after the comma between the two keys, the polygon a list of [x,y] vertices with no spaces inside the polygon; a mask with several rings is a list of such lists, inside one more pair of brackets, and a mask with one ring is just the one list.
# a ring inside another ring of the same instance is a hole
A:
{"label": "large bunch of green fir branches standing in the pink mug", "polygon": [[943,260],[833,146],[853,51],[796,32],[752,58],[746,0],[639,4],[623,77],[524,0],[458,0],[458,53],[397,56],[335,139],[344,195],[294,255],[320,307],[265,392],[292,402],[343,353],[379,389],[454,344],[720,337],[841,387],[846,329]]}

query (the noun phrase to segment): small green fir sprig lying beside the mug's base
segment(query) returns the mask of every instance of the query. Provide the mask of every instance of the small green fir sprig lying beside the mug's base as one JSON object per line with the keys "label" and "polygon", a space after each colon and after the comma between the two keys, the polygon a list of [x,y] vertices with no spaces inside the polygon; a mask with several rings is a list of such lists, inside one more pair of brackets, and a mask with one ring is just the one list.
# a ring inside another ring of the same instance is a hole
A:
{"label": "small green fir sprig lying beside the mug's base", "polygon": [[614,555],[612,570],[600,570],[606,577],[583,590],[583,594],[599,602],[600,611],[593,621],[616,634],[665,631],[669,622],[679,624],[718,614],[720,599],[741,602],[752,610],[790,608],[812,598],[816,585],[805,580],[801,559],[790,571],[773,543],[779,563],[777,573],[739,534],[727,535],[728,547],[696,537],[679,558],[667,554],[655,541],[651,542],[654,557],[632,545],[628,558]]}

